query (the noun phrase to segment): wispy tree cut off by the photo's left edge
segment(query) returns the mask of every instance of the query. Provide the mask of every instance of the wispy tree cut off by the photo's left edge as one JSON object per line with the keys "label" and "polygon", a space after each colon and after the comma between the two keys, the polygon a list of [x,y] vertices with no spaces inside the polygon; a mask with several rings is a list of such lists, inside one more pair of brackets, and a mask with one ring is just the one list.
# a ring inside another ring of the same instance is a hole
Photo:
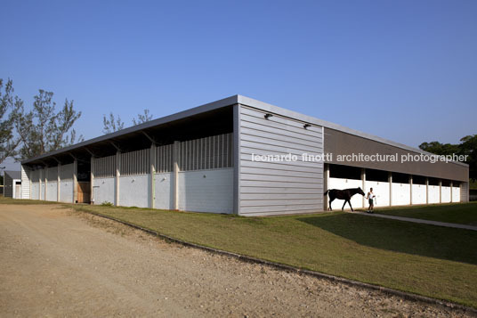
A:
{"label": "wispy tree cut off by the photo's left edge", "polygon": [[12,80],[8,79],[4,86],[4,80],[0,78],[0,164],[15,155],[20,143],[20,138],[14,135],[13,118],[23,102],[13,96],[13,91]]}

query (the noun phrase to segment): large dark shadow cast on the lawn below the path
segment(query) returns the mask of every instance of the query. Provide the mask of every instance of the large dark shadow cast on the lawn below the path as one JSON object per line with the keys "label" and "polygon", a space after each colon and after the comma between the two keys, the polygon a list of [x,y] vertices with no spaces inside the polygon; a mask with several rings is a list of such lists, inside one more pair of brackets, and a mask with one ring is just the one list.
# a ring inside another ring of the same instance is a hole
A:
{"label": "large dark shadow cast on the lawn below the path", "polygon": [[475,231],[339,212],[297,220],[371,248],[477,265]]}

